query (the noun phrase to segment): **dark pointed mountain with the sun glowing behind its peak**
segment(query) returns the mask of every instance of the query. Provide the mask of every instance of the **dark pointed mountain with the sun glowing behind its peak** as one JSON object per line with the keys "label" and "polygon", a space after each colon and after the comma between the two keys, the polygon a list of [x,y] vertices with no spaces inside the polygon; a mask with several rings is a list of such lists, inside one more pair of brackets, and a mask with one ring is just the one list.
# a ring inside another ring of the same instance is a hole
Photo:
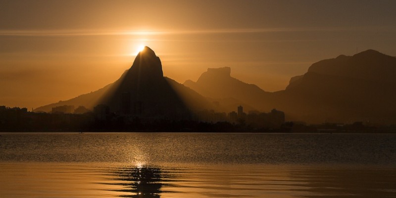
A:
{"label": "dark pointed mountain with the sun glowing behind its peak", "polygon": [[192,111],[211,108],[211,103],[195,91],[164,77],[159,57],[148,47],[139,52],[131,68],[114,83],[35,111],[49,112],[52,107],[65,104],[83,105],[90,109],[104,104],[110,112],[150,118],[183,118]]}

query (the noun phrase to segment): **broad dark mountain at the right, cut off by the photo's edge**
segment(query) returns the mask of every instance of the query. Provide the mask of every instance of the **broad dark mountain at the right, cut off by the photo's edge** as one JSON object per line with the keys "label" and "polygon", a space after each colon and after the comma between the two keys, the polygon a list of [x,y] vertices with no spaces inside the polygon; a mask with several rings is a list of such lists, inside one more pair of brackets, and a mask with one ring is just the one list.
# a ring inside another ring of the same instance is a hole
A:
{"label": "broad dark mountain at the right, cut off by the photo's edge", "polygon": [[395,75],[395,57],[372,49],[340,55],[313,63],[271,102],[309,122],[396,123]]}

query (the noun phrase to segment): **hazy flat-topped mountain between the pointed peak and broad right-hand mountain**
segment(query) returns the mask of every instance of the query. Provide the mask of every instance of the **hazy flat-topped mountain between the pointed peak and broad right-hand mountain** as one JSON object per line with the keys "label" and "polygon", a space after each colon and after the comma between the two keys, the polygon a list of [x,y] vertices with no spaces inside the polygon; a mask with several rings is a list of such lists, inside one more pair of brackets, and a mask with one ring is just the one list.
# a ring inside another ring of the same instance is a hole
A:
{"label": "hazy flat-topped mountain between the pointed peak and broad right-hand mountain", "polygon": [[231,77],[231,68],[208,68],[197,82],[187,80],[183,85],[197,91],[202,96],[220,101],[226,111],[235,111],[244,104],[247,110],[263,108],[261,100],[268,93],[253,84],[244,83]]}

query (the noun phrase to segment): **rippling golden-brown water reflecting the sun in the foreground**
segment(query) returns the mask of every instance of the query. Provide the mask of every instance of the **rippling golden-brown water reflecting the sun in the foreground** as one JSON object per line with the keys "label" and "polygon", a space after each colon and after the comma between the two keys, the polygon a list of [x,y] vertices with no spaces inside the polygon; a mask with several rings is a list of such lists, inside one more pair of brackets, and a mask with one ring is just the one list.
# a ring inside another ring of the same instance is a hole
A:
{"label": "rippling golden-brown water reflecting the sun in the foreground", "polygon": [[1,198],[396,198],[396,134],[0,135]]}

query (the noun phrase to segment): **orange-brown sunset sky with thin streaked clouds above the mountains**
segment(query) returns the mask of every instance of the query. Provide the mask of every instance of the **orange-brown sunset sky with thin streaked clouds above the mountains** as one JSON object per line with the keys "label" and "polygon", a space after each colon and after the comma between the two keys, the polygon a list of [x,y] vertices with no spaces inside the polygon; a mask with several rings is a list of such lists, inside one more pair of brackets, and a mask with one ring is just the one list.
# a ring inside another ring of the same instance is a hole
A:
{"label": "orange-brown sunset sky with thin streaked clouds above the mountains", "polygon": [[96,91],[153,49],[165,76],[207,68],[269,92],[319,60],[396,55],[395,0],[0,0],[0,105]]}

